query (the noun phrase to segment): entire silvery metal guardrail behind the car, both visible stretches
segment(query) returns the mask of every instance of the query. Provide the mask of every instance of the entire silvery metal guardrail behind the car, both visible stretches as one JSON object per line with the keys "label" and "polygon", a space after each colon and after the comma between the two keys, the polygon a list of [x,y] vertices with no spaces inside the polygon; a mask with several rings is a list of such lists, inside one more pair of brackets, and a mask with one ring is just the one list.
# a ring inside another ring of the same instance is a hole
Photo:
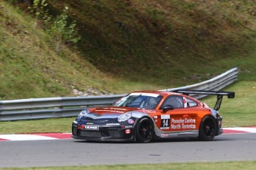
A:
{"label": "entire silvery metal guardrail behind the car, both visible stretches", "polygon": [[[203,81],[199,84],[182,86],[160,91],[174,91],[177,89],[220,90],[237,80],[237,67]],[[76,116],[82,109],[91,106],[109,106],[125,95],[65,97],[65,98],[30,98],[10,101],[0,101],[0,121],[32,120],[41,118],[64,118]],[[194,95],[203,98],[205,95]]]}

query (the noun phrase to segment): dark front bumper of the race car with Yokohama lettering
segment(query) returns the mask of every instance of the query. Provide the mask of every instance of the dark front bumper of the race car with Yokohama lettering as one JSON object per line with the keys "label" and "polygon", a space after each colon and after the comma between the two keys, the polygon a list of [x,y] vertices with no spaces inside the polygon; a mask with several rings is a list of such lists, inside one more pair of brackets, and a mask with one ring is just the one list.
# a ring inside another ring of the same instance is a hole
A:
{"label": "dark front bumper of the race car with Yokohama lettering", "polygon": [[73,139],[99,141],[134,141],[132,126],[100,126],[96,129],[85,129],[82,124],[72,124]]}

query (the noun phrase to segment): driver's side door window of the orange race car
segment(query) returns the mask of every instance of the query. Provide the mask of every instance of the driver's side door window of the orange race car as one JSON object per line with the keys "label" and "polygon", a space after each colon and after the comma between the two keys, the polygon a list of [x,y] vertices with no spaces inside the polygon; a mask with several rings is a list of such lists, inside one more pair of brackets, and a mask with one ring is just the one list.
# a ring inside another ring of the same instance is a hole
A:
{"label": "driver's side door window of the orange race car", "polygon": [[165,99],[160,109],[165,108],[165,106],[173,106],[174,109],[183,108],[184,107],[183,97],[179,95],[171,95]]}

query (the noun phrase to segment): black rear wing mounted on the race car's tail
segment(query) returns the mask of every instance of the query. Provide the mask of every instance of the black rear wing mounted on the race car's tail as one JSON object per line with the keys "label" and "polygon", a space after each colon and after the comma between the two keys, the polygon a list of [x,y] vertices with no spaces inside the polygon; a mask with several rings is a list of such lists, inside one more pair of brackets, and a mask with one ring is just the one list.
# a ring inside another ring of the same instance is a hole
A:
{"label": "black rear wing mounted on the race car's tail", "polygon": [[220,92],[220,91],[206,91],[206,90],[176,90],[174,92],[182,93],[183,95],[197,94],[197,95],[217,95],[217,101],[214,109],[219,110],[223,95],[227,95],[228,98],[234,98],[234,92]]}

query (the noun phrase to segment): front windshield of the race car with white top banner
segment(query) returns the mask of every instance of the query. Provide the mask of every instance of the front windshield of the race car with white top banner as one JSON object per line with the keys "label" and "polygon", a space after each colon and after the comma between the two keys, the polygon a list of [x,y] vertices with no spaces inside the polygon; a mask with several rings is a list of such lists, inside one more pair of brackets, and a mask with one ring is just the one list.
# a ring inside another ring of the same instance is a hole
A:
{"label": "front windshield of the race car with white top banner", "polygon": [[142,109],[156,109],[162,95],[153,93],[133,92],[114,103],[114,106],[135,107]]}

